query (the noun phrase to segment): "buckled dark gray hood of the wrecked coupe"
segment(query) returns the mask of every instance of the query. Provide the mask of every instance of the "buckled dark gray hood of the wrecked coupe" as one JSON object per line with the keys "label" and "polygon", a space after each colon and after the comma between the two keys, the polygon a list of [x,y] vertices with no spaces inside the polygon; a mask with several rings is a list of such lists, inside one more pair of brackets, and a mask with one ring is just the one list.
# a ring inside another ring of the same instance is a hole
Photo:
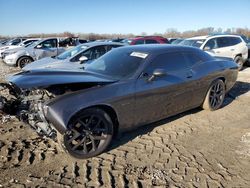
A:
{"label": "buckled dark gray hood of the wrecked coupe", "polygon": [[83,69],[34,69],[8,77],[8,81],[21,89],[42,89],[54,85],[81,83],[111,83],[109,77]]}

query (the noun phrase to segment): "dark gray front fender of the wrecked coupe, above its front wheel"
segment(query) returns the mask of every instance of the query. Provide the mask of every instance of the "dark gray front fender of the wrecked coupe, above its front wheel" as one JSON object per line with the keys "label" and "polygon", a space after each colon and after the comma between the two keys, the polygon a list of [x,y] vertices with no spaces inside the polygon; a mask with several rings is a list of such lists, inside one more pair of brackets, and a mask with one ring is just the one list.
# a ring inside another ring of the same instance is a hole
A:
{"label": "dark gray front fender of the wrecked coupe, above its front wheel", "polygon": [[45,117],[60,133],[64,133],[76,113],[98,105],[114,109],[123,128],[132,126],[135,114],[134,84],[113,83],[56,97],[45,104]]}

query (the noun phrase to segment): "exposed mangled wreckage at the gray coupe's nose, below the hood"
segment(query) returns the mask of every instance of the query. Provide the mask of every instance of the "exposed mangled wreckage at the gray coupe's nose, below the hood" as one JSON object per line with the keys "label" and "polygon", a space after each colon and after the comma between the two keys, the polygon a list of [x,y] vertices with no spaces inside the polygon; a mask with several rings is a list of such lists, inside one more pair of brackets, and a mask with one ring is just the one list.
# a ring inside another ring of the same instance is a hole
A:
{"label": "exposed mangled wreckage at the gray coupe's nose, below the hood", "polygon": [[0,83],[0,113],[16,116],[39,135],[54,139],[56,130],[46,121],[43,113],[44,102],[53,97],[44,89],[22,90],[12,83]]}

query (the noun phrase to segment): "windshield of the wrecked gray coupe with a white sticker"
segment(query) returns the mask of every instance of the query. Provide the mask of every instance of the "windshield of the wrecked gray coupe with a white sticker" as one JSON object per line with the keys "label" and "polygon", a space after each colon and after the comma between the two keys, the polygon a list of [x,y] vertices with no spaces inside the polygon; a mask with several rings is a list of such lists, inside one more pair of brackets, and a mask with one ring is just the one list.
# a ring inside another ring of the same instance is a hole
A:
{"label": "windshield of the wrecked gray coupe with a white sticker", "polygon": [[147,56],[146,53],[115,49],[87,65],[85,69],[118,80],[124,79],[132,76]]}

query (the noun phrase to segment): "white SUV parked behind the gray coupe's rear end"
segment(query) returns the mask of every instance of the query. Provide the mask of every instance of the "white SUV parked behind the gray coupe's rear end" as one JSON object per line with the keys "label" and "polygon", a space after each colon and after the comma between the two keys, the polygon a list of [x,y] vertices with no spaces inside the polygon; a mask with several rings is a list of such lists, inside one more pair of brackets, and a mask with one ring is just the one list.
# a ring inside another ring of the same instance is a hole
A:
{"label": "white SUV parked behind the gray coupe's rear end", "polygon": [[188,38],[180,45],[198,47],[212,56],[233,59],[242,69],[248,58],[248,47],[238,35],[208,35]]}

